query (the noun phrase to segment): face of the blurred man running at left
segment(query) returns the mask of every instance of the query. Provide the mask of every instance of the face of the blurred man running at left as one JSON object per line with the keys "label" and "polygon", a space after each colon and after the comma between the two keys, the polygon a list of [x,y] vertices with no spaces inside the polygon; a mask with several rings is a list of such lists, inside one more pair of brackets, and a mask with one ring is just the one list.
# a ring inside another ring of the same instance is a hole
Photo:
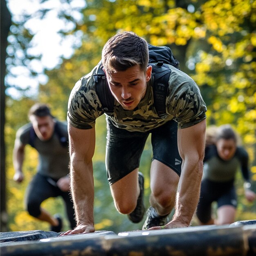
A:
{"label": "face of the blurred man running at left", "polygon": [[45,141],[52,137],[54,132],[54,120],[51,116],[37,117],[31,115],[30,121],[40,140]]}

